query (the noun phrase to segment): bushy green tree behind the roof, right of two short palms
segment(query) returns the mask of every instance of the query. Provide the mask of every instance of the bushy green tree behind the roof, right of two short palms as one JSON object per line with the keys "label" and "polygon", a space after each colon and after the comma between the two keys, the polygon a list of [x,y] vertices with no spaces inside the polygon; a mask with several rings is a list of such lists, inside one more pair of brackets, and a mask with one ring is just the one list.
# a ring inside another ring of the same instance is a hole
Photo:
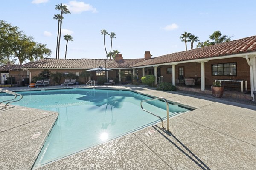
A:
{"label": "bushy green tree behind the roof, right of two short palms", "polygon": [[212,35],[209,35],[209,38],[210,40],[199,42],[197,48],[220,44],[223,42],[229,42],[231,40],[231,37],[228,37],[227,35],[222,35],[221,31],[214,31]]}

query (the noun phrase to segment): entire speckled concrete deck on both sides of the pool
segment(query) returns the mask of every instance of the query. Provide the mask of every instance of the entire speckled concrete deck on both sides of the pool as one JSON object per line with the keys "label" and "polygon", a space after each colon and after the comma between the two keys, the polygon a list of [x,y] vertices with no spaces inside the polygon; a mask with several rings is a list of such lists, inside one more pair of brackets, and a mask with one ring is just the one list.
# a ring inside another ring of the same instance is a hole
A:
{"label": "entire speckled concrete deck on both sides of the pool", "polygon": [[[163,131],[160,124],[153,125],[60,159],[39,170],[256,169],[256,111],[143,87],[108,88],[164,97],[170,102],[196,109],[170,118],[172,133]],[[0,167],[31,169],[57,115],[20,106],[0,111]],[[38,138],[31,139],[40,131]]]}

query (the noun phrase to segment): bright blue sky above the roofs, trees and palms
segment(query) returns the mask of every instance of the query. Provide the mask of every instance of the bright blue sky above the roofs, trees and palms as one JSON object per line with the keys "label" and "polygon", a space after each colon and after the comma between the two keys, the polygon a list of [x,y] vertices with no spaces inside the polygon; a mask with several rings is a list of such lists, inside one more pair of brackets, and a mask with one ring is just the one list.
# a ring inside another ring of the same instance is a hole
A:
{"label": "bright blue sky above the roofs, trees and palms", "polygon": [[[2,0],[0,20],[47,44],[55,58],[58,22],[52,17],[61,2],[72,13],[64,15],[62,25],[74,40],[68,44],[68,59],[106,59],[102,29],[116,33],[112,49],[124,59],[143,58],[145,51],[153,57],[184,51],[179,39],[184,31],[201,42],[216,30],[232,40],[256,35],[256,0]],[[108,51],[110,42],[106,37]],[[65,45],[62,38],[60,58]]]}

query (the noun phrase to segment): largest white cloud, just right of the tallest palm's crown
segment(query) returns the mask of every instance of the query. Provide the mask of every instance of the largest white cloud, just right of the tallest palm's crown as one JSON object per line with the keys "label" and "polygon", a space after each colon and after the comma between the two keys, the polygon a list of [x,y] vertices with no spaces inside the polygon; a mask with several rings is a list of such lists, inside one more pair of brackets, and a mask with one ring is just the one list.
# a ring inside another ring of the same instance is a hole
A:
{"label": "largest white cloud, just right of the tallest palm's crown", "polygon": [[96,13],[96,8],[93,8],[90,4],[79,2],[76,0],[70,1],[68,4],[65,4],[67,8],[70,10],[71,13],[81,13],[84,11],[92,11],[93,13]]}

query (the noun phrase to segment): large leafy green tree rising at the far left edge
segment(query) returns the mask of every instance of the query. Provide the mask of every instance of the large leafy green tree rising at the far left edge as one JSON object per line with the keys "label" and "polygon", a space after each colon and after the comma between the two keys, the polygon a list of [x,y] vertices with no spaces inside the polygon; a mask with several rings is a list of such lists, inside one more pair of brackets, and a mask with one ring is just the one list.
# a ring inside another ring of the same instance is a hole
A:
{"label": "large leafy green tree rising at the far left edge", "polygon": [[20,65],[25,61],[33,61],[49,57],[51,50],[46,44],[35,42],[17,26],[0,21],[0,62],[17,57]]}

